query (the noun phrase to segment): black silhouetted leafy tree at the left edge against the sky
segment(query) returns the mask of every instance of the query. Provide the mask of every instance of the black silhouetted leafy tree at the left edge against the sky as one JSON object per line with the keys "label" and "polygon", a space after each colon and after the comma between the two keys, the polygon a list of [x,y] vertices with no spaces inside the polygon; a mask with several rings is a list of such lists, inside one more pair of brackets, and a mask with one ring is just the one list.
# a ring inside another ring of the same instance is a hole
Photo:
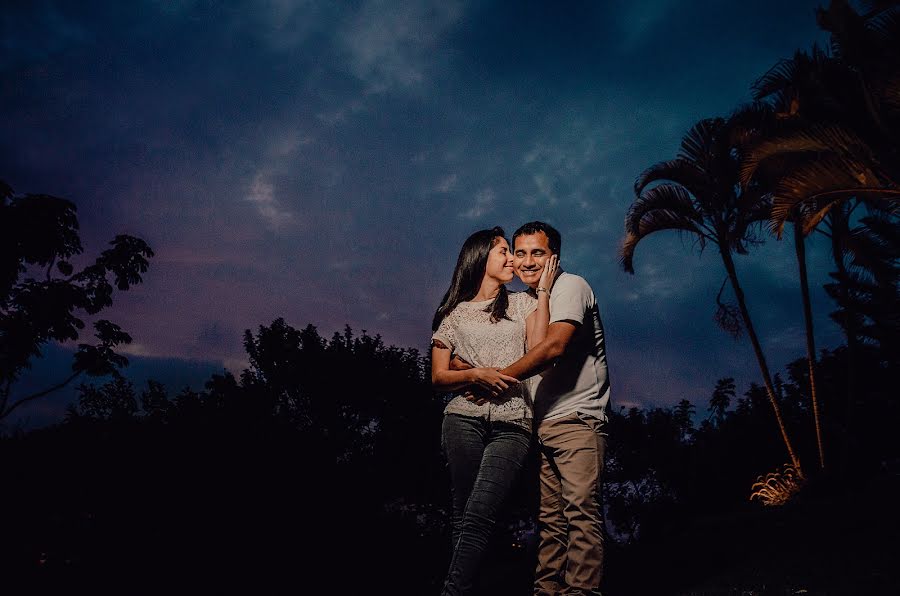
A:
{"label": "black silhouetted leafy tree at the left edge against the sky", "polygon": [[[0,421],[16,408],[71,383],[82,374],[105,376],[126,366],[115,347],[131,337],[117,325],[94,323],[97,343],[78,344],[72,373],[46,389],[11,401],[14,383],[54,341],[76,341],[84,322],[112,304],[115,289],[141,283],[153,251],[119,235],[94,263],[75,271],[82,253],[75,205],[41,194],[16,195],[0,181]],[[111,279],[110,279],[111,278]]]}

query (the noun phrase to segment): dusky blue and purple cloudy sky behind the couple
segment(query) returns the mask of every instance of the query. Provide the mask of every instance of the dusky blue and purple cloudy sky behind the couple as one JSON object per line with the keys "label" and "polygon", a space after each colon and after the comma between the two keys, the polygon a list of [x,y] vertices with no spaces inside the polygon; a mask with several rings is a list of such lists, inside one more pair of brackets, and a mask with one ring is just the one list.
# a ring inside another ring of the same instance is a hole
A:
{"label": "dusky blue and purple cloudy sky behind the couple", "polygon": [[[153,247],[103,314],[133,336],[138,377],[240,372],[244,330],[277,317],[424,351],[463,240],[540,219],[597,296],[614,405],[703,413],[716,379],[743,391],[759,370],[714,324],[714,251],[657,234],[621,271],[633,182],[827,41],[820,4],[14,1],[0,179],[74,201],[86,256],[118,233]],[[817,344],[834,347],[821,241],[808,258]],[[791,243],[737,265],[773,370],[805,355]],[[22,386],[64,373],[67,349]]]}

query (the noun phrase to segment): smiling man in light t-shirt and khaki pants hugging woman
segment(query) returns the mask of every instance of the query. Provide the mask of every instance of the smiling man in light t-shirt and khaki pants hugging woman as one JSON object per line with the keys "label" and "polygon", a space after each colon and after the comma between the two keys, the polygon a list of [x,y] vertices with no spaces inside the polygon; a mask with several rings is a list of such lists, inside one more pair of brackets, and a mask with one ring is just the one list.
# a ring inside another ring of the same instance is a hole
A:
{"label": "smiling man in light t-shirt and khaki pants hugging woman", "polygon": [[[535,221],[513,234],[513,266],[529,291],[562,240]],[[550,295],[547,338],[501,372],[532,380],[541,453],[540,546],[534,591],[599,594],[603,574],[600,478],[609,377],[603,325],[588,283],[560,269]],[[548,368],[549,367],[549,368]],[[545,370],[546,369],[546,370]]]}

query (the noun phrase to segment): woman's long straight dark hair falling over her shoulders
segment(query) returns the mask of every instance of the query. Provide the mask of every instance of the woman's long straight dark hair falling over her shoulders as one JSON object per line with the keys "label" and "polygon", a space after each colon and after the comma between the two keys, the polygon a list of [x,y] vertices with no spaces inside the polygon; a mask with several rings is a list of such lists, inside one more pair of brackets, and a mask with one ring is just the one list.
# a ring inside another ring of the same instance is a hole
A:
{"label": "woman's long straight dark hair falling over her shoulders", "polygon": [[[495,227],[490,230],[479,230],[463,242],[459,258],[456,259],[456,269],[453,270],[450,289],[444,294],[441,305],[434,313],[434,320],[431,323],[432,331],[437,331],[444,317],[450,314],[450,311],[456,308],[460,302],[471,300],[478,294],[481,280],[484,279],[484,271],[487,268],[488,253],[501,238],[505,240],[506,233],[503,228]],[[508,306],[509,296],[506,293],[506,286],[501,285],[500,293],[484,310],[491,313],[491,322],[496,323],[500,319],[509,318],[506,316]]]}

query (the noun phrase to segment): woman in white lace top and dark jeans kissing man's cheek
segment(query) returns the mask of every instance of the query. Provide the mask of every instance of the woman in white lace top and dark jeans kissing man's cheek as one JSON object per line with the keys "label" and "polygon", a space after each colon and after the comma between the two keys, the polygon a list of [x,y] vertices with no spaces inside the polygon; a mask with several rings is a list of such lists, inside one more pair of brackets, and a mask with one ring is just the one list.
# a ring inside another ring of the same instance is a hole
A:
{"label": "woman in white lace top and dark jeans kissing man's cheek", "polygon": [[[537,299],[508,294],[513,259],[502,228],[466,239],[450,289],[432,323],[431,382],[489,396],[478,405],[455,396],[444,410],[441,442],[450,468],[453,558],[443,594],[465,594],[475,581],[500,507],[524,465],[531,442],[531,400],[524,383],[499,372],[537,345],[550,320],[556,257],[544,268]],[[451,369],[458,355],[472,365]]]}

